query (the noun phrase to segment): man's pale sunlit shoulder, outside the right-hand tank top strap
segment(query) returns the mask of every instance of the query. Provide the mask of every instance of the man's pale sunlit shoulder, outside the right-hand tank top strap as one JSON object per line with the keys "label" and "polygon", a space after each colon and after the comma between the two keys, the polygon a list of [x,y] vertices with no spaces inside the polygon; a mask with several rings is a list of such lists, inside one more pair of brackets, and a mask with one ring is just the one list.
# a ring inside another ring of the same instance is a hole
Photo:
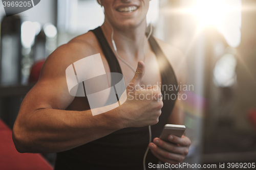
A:
{"label": "man's pale sunlit shoulder, outside the right-hand tank top strap", "polygon": [[161,50],[173,67],[178,84],[186,84],[187,81],[187,63],[183,53],[178,48],[167,44],[166,42],[154,37]]}

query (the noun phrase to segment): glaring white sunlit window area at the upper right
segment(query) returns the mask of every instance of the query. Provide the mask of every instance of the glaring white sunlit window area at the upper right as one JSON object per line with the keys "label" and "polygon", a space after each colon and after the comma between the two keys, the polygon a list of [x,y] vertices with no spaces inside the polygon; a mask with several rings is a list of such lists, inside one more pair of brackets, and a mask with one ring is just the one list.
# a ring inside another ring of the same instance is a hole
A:
{"label": "glaring white sunlit window area at the upper right", "polygon": [[241,42],[241,0],[198,0],[190,8],[199,27],[216,27],[225,37],[227,43],[237,47]]}

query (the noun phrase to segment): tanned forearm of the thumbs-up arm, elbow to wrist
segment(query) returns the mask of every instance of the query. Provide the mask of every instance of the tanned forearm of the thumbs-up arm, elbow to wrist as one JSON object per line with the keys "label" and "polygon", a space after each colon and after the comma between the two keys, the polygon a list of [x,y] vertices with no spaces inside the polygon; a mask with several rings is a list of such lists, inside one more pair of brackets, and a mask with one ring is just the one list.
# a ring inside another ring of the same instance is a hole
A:
{"label": "tanned forearm of the thumbs-up arm, elbow to wrist", "polygon": [[20,114],[13,127],[14,144],[19,152],[66,151],[123,128],[119,112],[116,108],[93,116],[91,110],[40,109],[19,119]]}

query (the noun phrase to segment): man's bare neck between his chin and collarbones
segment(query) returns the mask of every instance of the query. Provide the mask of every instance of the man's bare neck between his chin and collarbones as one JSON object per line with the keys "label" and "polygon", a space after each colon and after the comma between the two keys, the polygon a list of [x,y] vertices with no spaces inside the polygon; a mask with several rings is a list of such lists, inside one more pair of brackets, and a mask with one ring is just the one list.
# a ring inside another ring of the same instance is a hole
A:
{"label": "man's bare neck between his chin and collarbones", "polygon": [[[145,29],[146,22],[144,21],[140,26],[136,28],[127,28],[127,29],[118,29],[112,27],[114,31],[113,39],[115,41],[118,54],[126,60],[142,60],[143,59],[143,50],[144,43],[146,41]],[[112,29],[105,20],[101,29],[106,37],[106,40],[113,48],[112,45]],[[113,48],[114,49],[114,48]],[[147,49],[147,47],[146,47]],[[146,50],[145,49],[145,50]]]}

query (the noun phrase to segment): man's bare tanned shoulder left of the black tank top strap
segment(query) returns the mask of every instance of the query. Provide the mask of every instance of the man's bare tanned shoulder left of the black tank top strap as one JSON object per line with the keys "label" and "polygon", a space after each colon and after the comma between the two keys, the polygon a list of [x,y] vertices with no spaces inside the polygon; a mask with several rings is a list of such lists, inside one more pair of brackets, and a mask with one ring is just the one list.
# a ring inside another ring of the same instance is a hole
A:
{"label": "man's bare tanned shoulder left of the black tank top strap", "polygon": [[97,42],[92,32],[77,36],[67,44],[59,46],[45,61],[42,76],[65,75],[72,63],[98,53]]}

